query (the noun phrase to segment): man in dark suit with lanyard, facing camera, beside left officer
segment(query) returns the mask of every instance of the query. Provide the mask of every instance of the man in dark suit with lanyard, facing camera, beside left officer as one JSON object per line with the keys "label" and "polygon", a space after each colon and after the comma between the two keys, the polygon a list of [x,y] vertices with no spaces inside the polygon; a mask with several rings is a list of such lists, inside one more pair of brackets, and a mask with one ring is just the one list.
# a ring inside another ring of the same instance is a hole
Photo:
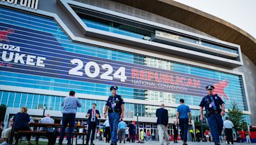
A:
{"label": "man in dark suit with lanyard, facing camera, beside left officer", "polygon": [[97,104],[92,104],[92,109],[88,110],[88,113],[86,114],[86,117],[88,117],[87,125],[88,125],[88,134],[86,136],[86,145],[89,144],[90,140],[90,134],[92,132],[92,139],[91,139],[91,145],[93,144],[94,136],[95,136],[95,130],[97,125],[99,125],[98,118],[100,118],[100,112],[96,109]]}

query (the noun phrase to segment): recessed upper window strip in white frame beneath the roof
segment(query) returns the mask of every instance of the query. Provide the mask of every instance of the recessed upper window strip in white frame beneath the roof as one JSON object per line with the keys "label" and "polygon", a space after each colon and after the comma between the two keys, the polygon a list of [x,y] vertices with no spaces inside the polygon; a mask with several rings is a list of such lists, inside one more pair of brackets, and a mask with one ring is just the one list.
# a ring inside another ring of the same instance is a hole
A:
{"label": "recessed upper window strip in white frame beneath the roof", "polygon": [[[84,24],[86,24],[87,27],[93,28],[93,29],[99,29],[101,31],[108,31],[116,34],[121,34],[124,36],[130,36],[132,38],[138,38],[138,39],[146,39],[152,41],[152,36],[154,36],[154,31],[148,31],[145,29],[140,29],[137,27],[133,27],[131,25],[125,25],[120,24],[117,22],[111,22],[109,20],[104,20],[102,18],[93,17],[90,15],[84,15],[79,13],[79,11],[76,11],[81,17],[81,20],[83,20]],[[186,34],[179,34],[175,32],[167,32],[169,36],[172,36],[172,38],[179,39],[182,41],[186,41],[189,43],[195,43],[202,46],[207,46],[210,48],[215,48],[218,50],[223,50],[225,52],[230,53],[236,53],[238,54],[237,48],[234,47],[228,47],[228,46],[221,46],[218,44],[215,44],[211,41],[207,41],[205,39],[200,38],[193,38],[192,36],[187,36]]]}

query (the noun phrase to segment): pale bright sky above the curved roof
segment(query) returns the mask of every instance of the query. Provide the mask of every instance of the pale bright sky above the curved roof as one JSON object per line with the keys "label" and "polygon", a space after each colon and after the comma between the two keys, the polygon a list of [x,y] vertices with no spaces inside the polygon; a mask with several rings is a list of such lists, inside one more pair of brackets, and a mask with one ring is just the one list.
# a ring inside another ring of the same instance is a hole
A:
{"label": "pale bright sky above the curved roof", "polygon": [[175,0],[226,20],[256,39],[256,0]]}

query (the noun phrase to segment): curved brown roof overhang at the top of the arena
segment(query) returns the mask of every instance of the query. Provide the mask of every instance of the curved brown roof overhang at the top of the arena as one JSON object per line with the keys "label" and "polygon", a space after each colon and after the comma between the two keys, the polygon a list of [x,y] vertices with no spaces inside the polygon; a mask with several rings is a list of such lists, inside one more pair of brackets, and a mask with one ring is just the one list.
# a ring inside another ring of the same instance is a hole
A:
{"label": "curved brown roof overhang at the top of the arena", "polygon": [[170,0],[111,0],[170,18],[215,38],[241,46],[241,51],[256,65],[256,39],[221,18]]}

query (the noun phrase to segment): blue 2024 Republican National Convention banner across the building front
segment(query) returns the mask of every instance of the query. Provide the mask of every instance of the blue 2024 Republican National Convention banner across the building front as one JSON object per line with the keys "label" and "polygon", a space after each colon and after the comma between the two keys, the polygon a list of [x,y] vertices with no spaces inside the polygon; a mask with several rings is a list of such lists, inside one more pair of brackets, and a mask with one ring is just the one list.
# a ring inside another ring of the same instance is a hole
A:
{"label": "blue 2024 Republican National Convention banner across the building front", "polygon": [[215,92],[222,97],[228,85],[227,79],[70,52],[50,33],[3,23],[0,23],[0,53],[1,71],[194,96],[205,95],[205,86],[215,85]]}

